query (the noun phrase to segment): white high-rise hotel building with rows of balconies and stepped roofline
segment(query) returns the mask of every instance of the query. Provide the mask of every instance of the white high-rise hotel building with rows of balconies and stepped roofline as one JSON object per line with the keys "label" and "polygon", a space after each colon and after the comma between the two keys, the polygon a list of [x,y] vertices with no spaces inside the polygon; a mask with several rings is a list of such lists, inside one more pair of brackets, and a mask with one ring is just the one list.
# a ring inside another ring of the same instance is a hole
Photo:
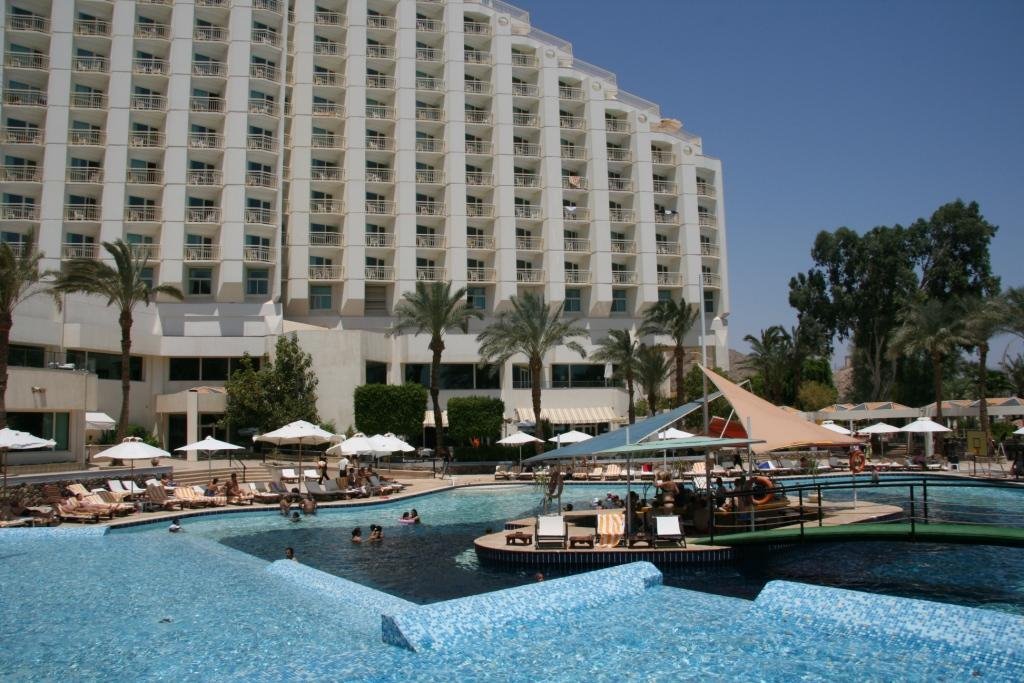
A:
{"label": "white high-rise hotel building with rows of balconies and stepped roofline", "polygon": [[[0,11],[0,239],[35,233],[55,269],[104,258],[100,243],[120,238],[148,255],[154,283],[184,292],[135,311],[131,420],[168,446],[210,432],[234,358],[292,331],[313,355],[322,417],[344,429],[353,387],[429,364],[424,337],[384,334],[418,281],[465,286],[487,314],[542,293],[587,325],[591,345],[682,296],[705,311],[694,357],[703,339],[709,360],[728,362],[721,163],[514,6],[2,0]],[[510,420],[528,419],[515,361],[474,370],[485,324],[449,337],[442,397],[500,396]],[[78,455],[85,411],[120,407],[115,311],[35,297],[12,343],[12,423]],[[551,354],[553,420],[614,426],[626,398],[609,375]]]}

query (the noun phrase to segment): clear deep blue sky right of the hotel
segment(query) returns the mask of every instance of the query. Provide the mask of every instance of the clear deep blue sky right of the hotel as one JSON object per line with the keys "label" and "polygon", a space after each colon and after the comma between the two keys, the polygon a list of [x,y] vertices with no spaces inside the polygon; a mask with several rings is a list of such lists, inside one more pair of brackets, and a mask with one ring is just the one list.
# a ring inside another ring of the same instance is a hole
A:
{"label": "clear deep blue sky right of the hotel", "polygon": [[999,226],[1004,287],[1024,284],[1024,1],[513,4],[722,160],[733,348],[796,323],[788,281],[819,230],[957,197]]}

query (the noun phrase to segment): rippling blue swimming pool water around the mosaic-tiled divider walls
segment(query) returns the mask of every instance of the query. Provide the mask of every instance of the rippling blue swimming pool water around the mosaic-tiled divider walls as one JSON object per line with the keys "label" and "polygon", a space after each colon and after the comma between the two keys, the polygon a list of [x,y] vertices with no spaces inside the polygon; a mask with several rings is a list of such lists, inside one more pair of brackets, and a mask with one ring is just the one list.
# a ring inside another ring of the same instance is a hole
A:
{"label": "rippling blue swimming pool water around the mosaic-tiled divider walls", "polygon": [[[593,490],[569,488],[570,498],[581,502]],[[479,567],[471,545],[461,539],[471,541],[488,525],[497,529],[505,519],[530,514],[537,503],[532,489],[490,487],[381,507],[325,510],[299,524],[272,513],[246,513],[186,519],[180,535],[167,533],[162,524],[105,536],[93,528],[69,530],[69,525],[55,529],[57,533],[4,532],[0,680],[1024,677],[1024,671],[1005,661],[933,660],[928,648],[896,647],[870,634],[850,639],[820,625],[780,620],[748,599],[671,585],[581,609],[554,624],[481,628],[471,647],[452,651],[414,653],[381,642],[381,612],[401,608],[402,599],[426,603],[464,595],[467,582],[493,590],[528,581],[515,571]],[[399,525],[400,512],[413,505],[425,523]],[[385,527],[385,543],[353,547],[351,527],[367,529],[371,523]],[[268,571],[268,561],[279,559],[286,545],[296,548],[304,564],[386,588],[387,594],[367,591],[339,599]],[[850,551],[862,555],[860,573],[881,565],[879,586],[863,588],[879,590],[892,582],[927,585],[934,573],[950,568],[949,556],[937,550],[934,560],[924,562],[926,570],[901,573],[903,562],[888,561],[895,545],[866,551],[868,546],[861,545]],[[808,563],[792,554],[773,559],[773,570],[811,581],[816,575],[810,567],[816,564],[825,574],[845,575],[844,561],[829,566],[829,553],[821,552]],[[929,590],[948,590],[950,584],[961,585],[965,593],[988,590],[992,580],[1004,582],[998,590],[1010,593],[1001,598],[1005,609],[1024,603],[1020,554],[956,561],[964,562],[965,572],[940,582],[946,588]],[[993,562],[1007,569],[986,577]],[[667,574],[666,583],[753,597],[753,586],[773,578],[758,571],[708,567]],[[468,592],[479,592],[475,588]]]}

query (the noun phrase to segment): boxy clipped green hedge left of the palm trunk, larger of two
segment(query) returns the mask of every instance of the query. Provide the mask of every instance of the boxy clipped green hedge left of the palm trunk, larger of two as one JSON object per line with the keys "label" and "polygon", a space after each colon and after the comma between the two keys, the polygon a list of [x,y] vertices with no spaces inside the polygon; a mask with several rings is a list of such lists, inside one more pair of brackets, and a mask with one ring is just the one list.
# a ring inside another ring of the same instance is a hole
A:
{"label": "boxy clipped green hedge left of the palm trunk, larger of two", "polygon": [[409,439],[423,433],[427,388],[419,384],[364,384],[352,394],[355,428],[364,434],[392,432]]}

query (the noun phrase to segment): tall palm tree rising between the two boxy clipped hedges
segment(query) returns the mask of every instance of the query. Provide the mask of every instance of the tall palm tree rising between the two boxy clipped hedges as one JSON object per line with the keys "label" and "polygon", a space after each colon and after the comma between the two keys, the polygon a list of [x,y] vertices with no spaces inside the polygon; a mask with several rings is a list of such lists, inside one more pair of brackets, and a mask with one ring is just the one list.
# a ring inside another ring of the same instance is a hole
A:
{"label": "tall palm tree rising between the two boxy clipped hedges", "polygon": [[400,335],[412,331],[414,335],[430,335],[427,348],[433,356],[430,359],[430,401],[434,411],[434,449],[441,453],[444,446],[444,429],[441,422],[440,370],[441,353],[444,351],[444,333],[450,330],[469,331],[471,317],[483,317],[475,308],[470,308],[466,300],[466,288],[452,292],[452,283],[416,283],[415,292],[406,292],[394,307],[395,322],[388,335]]}

